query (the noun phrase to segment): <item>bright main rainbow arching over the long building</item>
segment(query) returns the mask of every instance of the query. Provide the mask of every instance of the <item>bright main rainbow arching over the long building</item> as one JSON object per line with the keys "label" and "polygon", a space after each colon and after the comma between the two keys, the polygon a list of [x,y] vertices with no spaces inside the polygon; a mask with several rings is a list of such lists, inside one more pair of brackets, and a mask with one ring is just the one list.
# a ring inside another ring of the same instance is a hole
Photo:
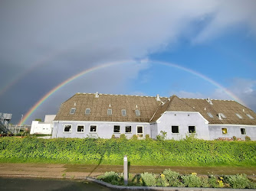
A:
{"label": "bright main rainbow arching over the long building", "polygon": [[[25,121],[33,114],[33,112],[46,100],[48,99],[48,97],[50,97],[54,92],[56,92],[58,89],[61,89],[61,87],[67,85],[67,83],[71,83],[71,81],[73,81],[74,79],[77,79],[79,78],[80,76],[83,76],[84,74],[86,73],[90,73],[90,72],[93,72],[95,70],[100,70],[100,69],[103,69],[103,68],[106,68],[106,67],[109,67],[109,66],[114,66],[114,65],[117,65],[117,64],[122,64],[122,63],[139,63],[139,62],[136,62],[136,60],[125,60],[125,61],[119,61],[119,62],[112,62],[112,63],[104,63],[104,64],[101,64],[99,66],[94,66],[90,69],[87,69],[87,70],[84,70],[80,73],[77,73],[76,75],[74,76],[71,76],[70,78],[64,80],[64,82],[60,83],[59,85],[55,86],[54,89],[51,89],[50,92],[48,92],[47,94],[45,94],[38,102],[36,102],[29,110],[28,112],[25,114],[24,118],[23,118],[23,121],[20,121],[18,125],[21,125],[21,122],[22,124],[25,123]],[[208,78],[207,76],[204,76],[202,75],[202,73],[198,73],[198,72],[195,72],[194,70],[191,70],[191,69],[188,69],[188,68],[185,68],[183,66],[179,66],[177,64],[174,64],[174,63],[166,63],[166,62],[161,62],[161,61],[154,61],[154,60],[149,60],[149,61],[146,61],[146,63],[156,63],[156,64],[162,64],[162,65],[166,65],[166,66],[172,66],[172,67],[176,67],[180,70],[184,70],[188,73],[192,73],[193,75],[195,76],[199,76],[200,78],[202,79],[205,79],[206,81],[208,81],[209,83],[212,83],[214,86],[217,86],[218,88],[220,89],[223,89],[224,92],[226,94],[228,94],[229,96],[231,96],[231,98],[237,100],[238,102],[241,102],[241,104],[245,105],[238,97],[236,97],[236,95],[234,95],[232,92],[229,92],[227,89],[225,89],[222,85],[216,83],[215,81],[213,81],[212,79]]]}

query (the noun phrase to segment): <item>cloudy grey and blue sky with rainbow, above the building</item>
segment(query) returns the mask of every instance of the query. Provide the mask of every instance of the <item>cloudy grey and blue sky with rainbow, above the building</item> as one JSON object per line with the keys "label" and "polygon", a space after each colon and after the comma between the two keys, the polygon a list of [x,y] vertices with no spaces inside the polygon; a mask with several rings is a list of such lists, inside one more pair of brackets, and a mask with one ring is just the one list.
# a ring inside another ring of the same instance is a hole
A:
{"label": "cloudy grey and blue sky with rainbow, above the building", "polygon": [[254,0],[1,0],[0,112],[77,92],[228,99],[256,111]]}

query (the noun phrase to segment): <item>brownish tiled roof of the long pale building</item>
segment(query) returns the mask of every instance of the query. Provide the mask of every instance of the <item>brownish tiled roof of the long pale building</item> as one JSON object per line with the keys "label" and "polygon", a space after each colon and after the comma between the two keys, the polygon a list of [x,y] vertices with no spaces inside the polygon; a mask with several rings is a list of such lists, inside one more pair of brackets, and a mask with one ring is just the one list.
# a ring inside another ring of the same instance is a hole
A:
{"label": "brownish tiled roof of the long pale building", "polygon": [[[212,100],[210,104],[206,99],[179,99],[176,95],[160,99],[157,101],[156,97],[151,96],[110,94],[99,94],[96,98],[95,94],[77,93],[61,104],[54,120],[153,122],[163,112],[200,112],[209,124],[256,125],[256,114],[235,101]],[[74,114],[70,114],[71,108],[76,108]],[[85,115],[86,108],[90,108],[89,115]],[[112,115],[107,115],[108,108],[112,109]],[[126,116],[122,115],[122,109],[126,109]],[[139,116],[136,116],[135,110],[139,110]],[[210,118],[208,112],[213,118]],[[220,120],[219,113],[223,113],[226,118]],[[236,113],[242,118],[238,118]]]}

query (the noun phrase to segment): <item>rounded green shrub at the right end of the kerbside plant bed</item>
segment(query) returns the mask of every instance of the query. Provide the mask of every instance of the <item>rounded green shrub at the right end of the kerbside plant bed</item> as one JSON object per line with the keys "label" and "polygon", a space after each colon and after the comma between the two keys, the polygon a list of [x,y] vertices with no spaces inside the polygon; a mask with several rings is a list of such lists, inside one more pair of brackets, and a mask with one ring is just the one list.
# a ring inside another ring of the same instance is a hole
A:
{"label": "rounded green shrub at the right end of the kerbside plant bed", "polygon": [[234,189],[245,189],[250,183],[245,173],[225,176],[224,180]]}

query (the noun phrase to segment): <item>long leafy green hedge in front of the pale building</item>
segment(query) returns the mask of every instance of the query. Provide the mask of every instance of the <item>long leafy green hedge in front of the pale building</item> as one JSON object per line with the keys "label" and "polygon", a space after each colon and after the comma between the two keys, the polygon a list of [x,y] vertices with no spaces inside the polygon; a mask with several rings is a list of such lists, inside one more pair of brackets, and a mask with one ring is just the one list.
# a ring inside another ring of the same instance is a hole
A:
{"label": "long leafy green hedge in front of the pale building", "polygon": [[256,167],[256,141],[0,138],[0,162]]}

